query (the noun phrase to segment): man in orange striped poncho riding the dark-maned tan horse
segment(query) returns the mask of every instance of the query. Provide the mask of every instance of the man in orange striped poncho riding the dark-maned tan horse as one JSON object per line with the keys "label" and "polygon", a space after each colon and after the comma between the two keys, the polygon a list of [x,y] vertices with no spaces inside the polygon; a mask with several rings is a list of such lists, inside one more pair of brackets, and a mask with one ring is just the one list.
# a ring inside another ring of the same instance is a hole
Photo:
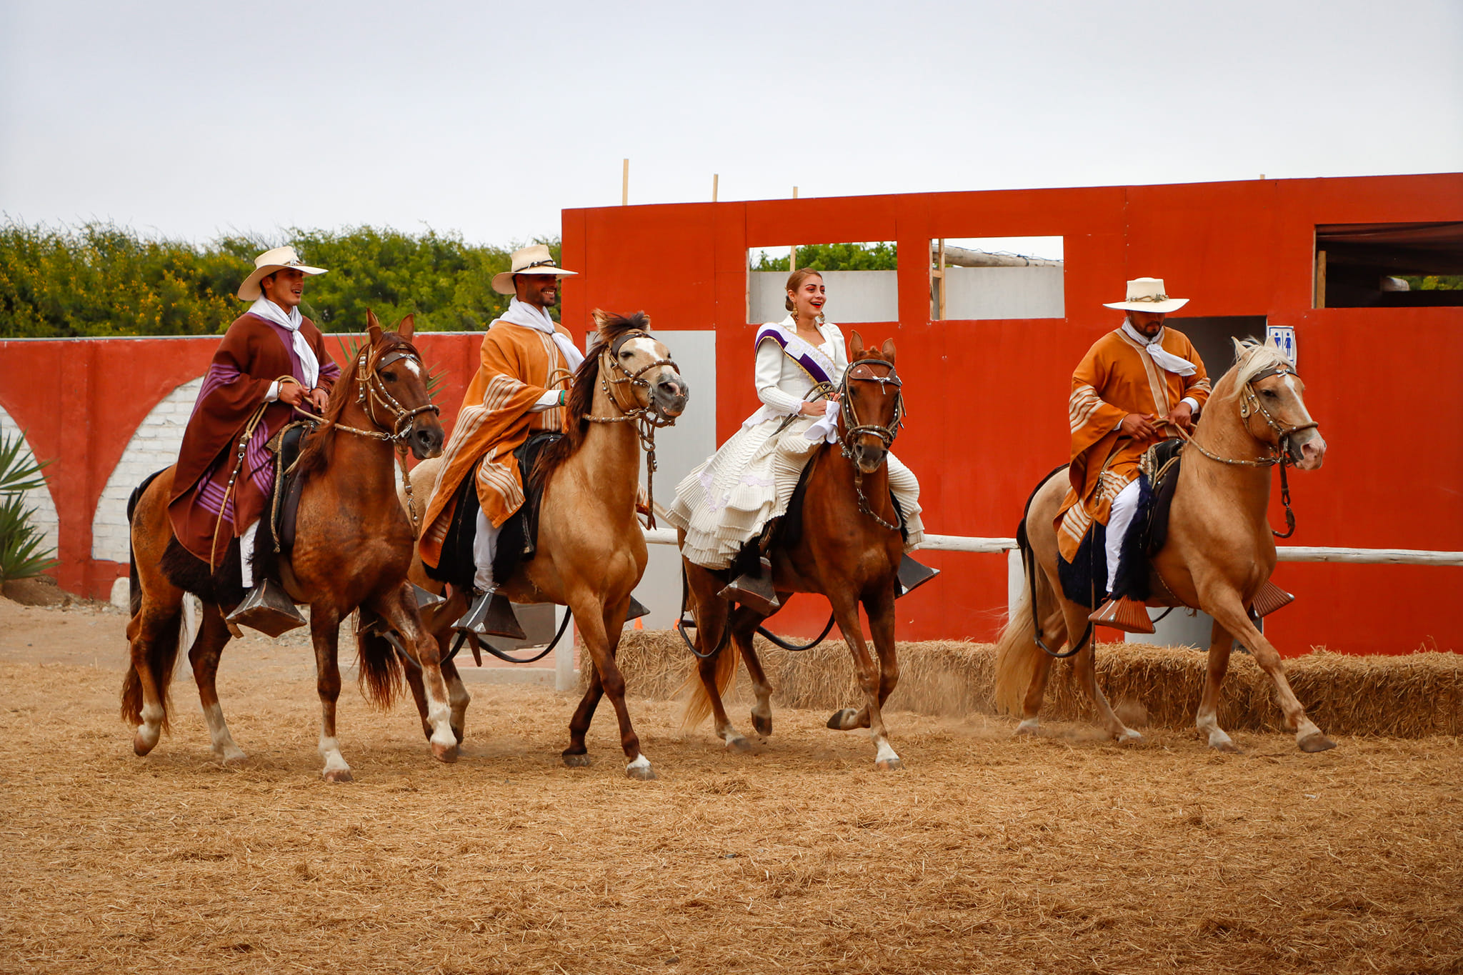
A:
{"label": "man in orange striped poncho riding the dark-maned tan horse", "polygon": [[462,396],[427,504],[418,551],[427,566],[436,567],[452,523],[452,498],[464,478],[474,478],[480,504],[473,538],[477,573],[473,605],[455,627],[478,636],[522,637],[512,608],[497,592],[493,555],[499,529],[524,503],[514,450],[530,434],[563,430],[569,377],[584,361],[569,330],[549,317],[559,297],[559,278],[572,273],[556,268],[549,249],[535,244],[514,251],[512,269],[493,278],[493,289],[514,300],[483,336],[477,374]]}

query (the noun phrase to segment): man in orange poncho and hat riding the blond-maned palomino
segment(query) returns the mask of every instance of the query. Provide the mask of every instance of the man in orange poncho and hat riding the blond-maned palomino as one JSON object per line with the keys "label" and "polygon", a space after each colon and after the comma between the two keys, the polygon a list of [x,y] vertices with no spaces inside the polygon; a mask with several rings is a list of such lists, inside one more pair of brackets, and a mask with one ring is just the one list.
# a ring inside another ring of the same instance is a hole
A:
{"label": "man in orange poncho and hat riding the blond-maned palomino", "polygon": [[1162,278],[1128,282],[1124,301],[1105,304],[1127,313],[1072,373],[1067,409],[1072,428],[1071,487],[1058,512],[1056,539],[1071,563],[1093,522],[1107,526],[1106,592],[1091,620],[1129,633],[1153,633],[1147,610],[1125,593],[1113,598],[1122,536],[1138,507],[1138,460],[1175,427],[1192,431],[1208,401],[1204,361],[1182,332],[1163,326],[1188,298],[1165,294]]}

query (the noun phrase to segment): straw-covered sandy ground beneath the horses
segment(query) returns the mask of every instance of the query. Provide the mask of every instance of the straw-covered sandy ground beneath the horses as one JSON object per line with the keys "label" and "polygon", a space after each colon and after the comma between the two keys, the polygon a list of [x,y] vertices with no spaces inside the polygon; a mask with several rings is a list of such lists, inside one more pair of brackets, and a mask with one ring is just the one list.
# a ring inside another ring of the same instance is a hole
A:
{"label": "straw-covered sandy ground beneath the horses", "polygon": [[559,765],[572,694],[471,686],[445,766],[351,687],[332,786],[309,658],[262,637],[219,681],[247,766],[190,681],[135,757],[121,629],[0,602],[6,972],[1463,971],[1456,737],[1220,756],[895,712],[907,769],[878,773],[824,709],[732,756],[633,697],[661,778],[632,782],[603,712],[595,765]]}

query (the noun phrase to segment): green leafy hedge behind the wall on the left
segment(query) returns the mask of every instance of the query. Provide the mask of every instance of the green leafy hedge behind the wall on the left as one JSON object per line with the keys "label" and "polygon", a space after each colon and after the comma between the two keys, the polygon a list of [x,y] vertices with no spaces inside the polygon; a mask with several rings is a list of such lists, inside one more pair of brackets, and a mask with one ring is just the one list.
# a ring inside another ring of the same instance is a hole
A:
{"label": "green leafy hedge behind the wall on the left", "polygon": [[[559,257],[559,241],[547,243]],[[304,289],[301,310],[323,332],[360,332],[366,308],[417,329],[481,329],[508,307],[492,278],[512,249],[456,234],[356,227],[291,229],[279,240],[222,237],[208,246],[146,240],[111,224],[54,229],[0,225],[0,338],[218,335],[247,307],[234,298],[257,253],[290,244],[328,268]]]}

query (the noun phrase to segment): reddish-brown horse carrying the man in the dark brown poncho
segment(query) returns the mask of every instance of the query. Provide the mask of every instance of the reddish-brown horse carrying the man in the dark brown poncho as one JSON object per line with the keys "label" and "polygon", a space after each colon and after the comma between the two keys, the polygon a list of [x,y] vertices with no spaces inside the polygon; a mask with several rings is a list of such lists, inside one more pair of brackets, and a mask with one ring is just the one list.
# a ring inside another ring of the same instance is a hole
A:
{"label": "reddish-brown horse carrying the man in the dark brown poncho", "polygon": [[[415,665],[427,675],[433,700],[432,753],[442,762],[456,759],[436,646],[421,627],[407,583],[414,534],[407,512],[396,501],[394,459],[396,444],[410,444],[418,459],[442,453],[442,424],[427,393],[421,357],[411,345],[411,317],[396,326],[396,332],[385,333],[375,314],[367,313],[367,344],[335,383],[325,421],[304,440],[298,465],[306,481],[294,551],[288,561],[279,563],[290,596],[310,605],[320,694],[322,775],[329,782],[351,778],[335,740],[335,702],[341,693],[336,640],[341,620],[357,607],[366,615],[385,618],[410,648]],[[228,734],[214,686],[218,659],[230,639],[224,615],[241,595],[238,544],[230,545],[224,563],[211,574],[206,563],[173,539],[167,512],[171,485],[173,468],[168,468],[142,491],[130,513],[133,576],[127,639],[132,667],[121,690],[121,716],[138,725],[133,750],[148,754],[168,725],[168,683],[178,650],[183,593],[193,592],[203,599],[203,618],[189,661],[203,718],[214,753],[225,762],[238,762],[244,753]],[[266,550],[265,535],[260,526],[256,554]],[[231,583],[225,576],[228,569],[234,573]],[[389,706],[401,687],[398,652],[366,627],[358,630],[357,640],[361,684],[376,703]]]}

